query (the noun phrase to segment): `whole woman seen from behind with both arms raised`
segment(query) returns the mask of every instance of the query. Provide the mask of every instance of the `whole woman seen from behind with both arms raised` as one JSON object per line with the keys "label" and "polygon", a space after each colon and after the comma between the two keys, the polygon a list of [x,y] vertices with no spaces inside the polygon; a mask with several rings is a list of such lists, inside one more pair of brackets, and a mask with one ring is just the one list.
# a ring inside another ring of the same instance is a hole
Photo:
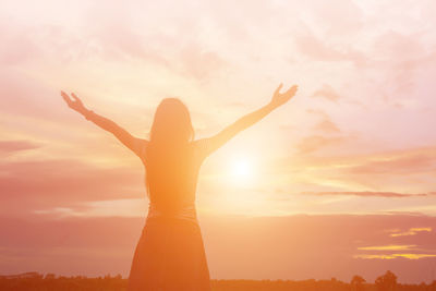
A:
{"label": "whole woman seen from behind with both arms raised", "polygon": [[193,141],[187,108],[177,98],[164,99],[154,117],[150,138],[137,138],[113,121],[84,107],[64,92],[68,106],[111,132],[136,154],[146,170],[148,215],[129,276],[129,291],[208,291],[210,288],[204,243],[195,209],[195,190],[202,162],[237,133],[253,125],[296,92],[292,86],[218,134]]}

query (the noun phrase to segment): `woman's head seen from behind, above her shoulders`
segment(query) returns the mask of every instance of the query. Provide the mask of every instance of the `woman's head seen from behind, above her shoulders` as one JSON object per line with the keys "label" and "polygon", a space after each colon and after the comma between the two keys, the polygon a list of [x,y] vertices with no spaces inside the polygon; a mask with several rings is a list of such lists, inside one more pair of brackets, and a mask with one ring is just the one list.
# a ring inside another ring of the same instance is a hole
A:
{"label": "woman's head seen from behind, above her shoulders", "polygon": [[187,107],[178,98],[165,98],[156,109],[150,142],[184,144],[194,138],[194,129]]}

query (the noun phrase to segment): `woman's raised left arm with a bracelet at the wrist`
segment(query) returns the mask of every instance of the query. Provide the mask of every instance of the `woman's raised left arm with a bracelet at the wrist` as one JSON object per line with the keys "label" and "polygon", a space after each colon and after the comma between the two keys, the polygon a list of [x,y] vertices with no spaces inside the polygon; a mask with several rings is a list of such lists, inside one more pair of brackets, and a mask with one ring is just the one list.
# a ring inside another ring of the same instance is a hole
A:
{"label": "woman's raised left arm with a bracelet at the wrist", "polygon": [[147,140],[137,138],[110,119],[107,119],[102,116],[95,113],[92,110],[86,109],[82,100],[77,96],[75,96],[74,93],[71,94],[74,100],[72,100],[70,96],[64,92],[61,92],[61,96],[71,109],[77,111],[78,113],[84,116],[86,120],[90,120],[105,131],[112,133],[123,145],[133,150],[133,153],[135,153],[137,156],[142,156],[143,150],[148,143]]}

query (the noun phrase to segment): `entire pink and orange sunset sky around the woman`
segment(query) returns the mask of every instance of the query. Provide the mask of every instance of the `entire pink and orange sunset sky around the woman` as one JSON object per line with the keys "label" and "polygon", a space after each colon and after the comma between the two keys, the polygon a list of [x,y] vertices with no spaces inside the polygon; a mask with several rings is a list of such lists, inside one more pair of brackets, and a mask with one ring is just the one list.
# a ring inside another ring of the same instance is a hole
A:
{"label": "entire pink and orange sunset sky around the woman", "polygon": [[126,277],[141,160],[60,90],[148,138],[165,97],[196,138],[295,97],[207,158],[213,279],[436,280],[436,2],[0,2],[0,274]]}

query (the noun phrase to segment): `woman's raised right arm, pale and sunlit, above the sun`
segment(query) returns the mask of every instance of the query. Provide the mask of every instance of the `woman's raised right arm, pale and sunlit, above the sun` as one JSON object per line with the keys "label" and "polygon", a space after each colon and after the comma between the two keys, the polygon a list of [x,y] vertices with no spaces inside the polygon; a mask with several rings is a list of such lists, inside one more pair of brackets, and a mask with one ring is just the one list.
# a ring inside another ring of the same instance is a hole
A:
{"label": "woman's raised right arm, pale and sunlit, above the sun", "polygon": [[282,85],[283,84],[280,84],[277,87],[276,92],[272,95],[271,100],[266,106],[240,118],[233,124],[223,129],[218,134],[208,138],[199,140],[198,145],[203,149],[202,150],[203,155],[208,156],[209,154],[221,147],[223,144],[226,144],[238,133],[250,128],[251,125],[253,125],[254,123],[266,117],[268,113],[270,113],[274,109],[289,101],[295,95],[298,86],[294,85],[291,88],[289,88],[286,93],[281,94],[280,89]]}

